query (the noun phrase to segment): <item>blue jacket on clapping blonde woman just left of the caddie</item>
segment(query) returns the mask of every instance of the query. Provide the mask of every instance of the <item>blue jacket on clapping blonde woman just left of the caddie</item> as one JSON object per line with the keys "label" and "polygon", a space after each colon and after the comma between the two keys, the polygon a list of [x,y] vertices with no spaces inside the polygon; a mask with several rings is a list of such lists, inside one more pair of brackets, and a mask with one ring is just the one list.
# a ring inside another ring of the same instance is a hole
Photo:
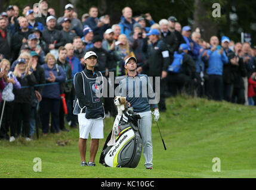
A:
{"label": "blue jacket on clapping blonde woman just left of the caddie", "polygon": [[[58,65],[58,71],[56,64],[53,68],[49,68],[47,64],[42,65],[45,73],[45,81],[48,83],[48,78],[50,77],[50,71],[53,72],[55,76],[55,83],[63,83],[66,80],[66,72],[63,68]],[[60,84],[45,85],[42,90],[42,97],[48,99],[60,99]]]}

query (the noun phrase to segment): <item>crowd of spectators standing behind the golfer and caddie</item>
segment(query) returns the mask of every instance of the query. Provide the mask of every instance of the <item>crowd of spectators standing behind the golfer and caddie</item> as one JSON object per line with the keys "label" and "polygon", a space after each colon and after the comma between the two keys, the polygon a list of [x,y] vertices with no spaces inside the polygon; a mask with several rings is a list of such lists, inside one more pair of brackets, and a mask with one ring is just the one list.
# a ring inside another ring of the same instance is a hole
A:
{"label": "crowd of spectators standing behind the golfer and caddie", "polygon": [[[30,141],[36,125],[43,136],[69,131],[65,123],[77,128],[72,80],[91,50],[104,77],[111,71],[115,77],[127,75],[129,56],[137,58],[138,72],[160,77],[162,112],[165,97],[180,93],[254,105],[256,49],[247,42],[227,36],[206,42],[200,29],[181,26],[174,15],[156,23],[149,13],[132,15],[129,7],[116,24],[110,24],[109,15],[98,18],[95,6],[81,20],[72,4],[58,18],[47,0],[20,8],[10,5],[0,15],[0,138],[13,142],[22,135]],[[104,98],[104,108],[106,116],[116,115],[113,98]]]}

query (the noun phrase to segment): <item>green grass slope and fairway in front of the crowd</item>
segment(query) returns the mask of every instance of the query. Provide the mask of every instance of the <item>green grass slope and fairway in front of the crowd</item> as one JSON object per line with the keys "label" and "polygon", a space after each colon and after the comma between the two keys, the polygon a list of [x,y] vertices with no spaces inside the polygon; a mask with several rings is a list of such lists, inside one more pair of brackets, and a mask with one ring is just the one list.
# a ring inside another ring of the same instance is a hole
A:
{"label": "green grass slope and fairway in front of the crowd", "polygon": [[[1,141],[0,178],[256,178],[254,106],[189,97],[166,99],[166,103],[159,127],[167,150],[153,122],[153,170],[144,168],[143,155],[135,169],[98,163],[113,125],[110,118],[104,119],[105,139],[100,141],[96,167],[80,166],[79,131],[70,129],[31,142],[24,138],[13,143]],[[57,140],[69,143],[59,146]],[[42,160],[42,172],[33,171],[35,157]],[[212,172],[214,157],[221,160],[221,172]]]}

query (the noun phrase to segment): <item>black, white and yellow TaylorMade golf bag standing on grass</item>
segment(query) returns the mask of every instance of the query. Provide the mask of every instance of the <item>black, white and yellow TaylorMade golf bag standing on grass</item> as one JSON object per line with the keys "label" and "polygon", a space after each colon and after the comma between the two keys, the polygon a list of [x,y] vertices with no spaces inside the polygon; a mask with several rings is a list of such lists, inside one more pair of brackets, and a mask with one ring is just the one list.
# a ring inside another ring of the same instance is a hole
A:
{"label": "black, white and yellow TaylorMade golf bag standing on grass", "polygon": [[124,110],[119,121],[119,133],[115,145],[108,146],[112,132],[107,137],[100,156],[100,163],[109,167],[137,167],[140,162],[142,140],[138,130],[140,115],[133,110]]}

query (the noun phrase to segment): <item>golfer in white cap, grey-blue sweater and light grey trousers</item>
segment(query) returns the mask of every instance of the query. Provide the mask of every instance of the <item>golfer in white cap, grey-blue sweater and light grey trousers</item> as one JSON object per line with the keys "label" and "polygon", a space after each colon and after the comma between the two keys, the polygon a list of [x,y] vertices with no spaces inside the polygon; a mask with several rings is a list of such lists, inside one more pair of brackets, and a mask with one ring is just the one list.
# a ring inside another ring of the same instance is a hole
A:
{"label": "golfer in white cap, grey-blue sweater and light grey trousers", "polygon": [[[128,76],[119,83],[119,94],[127,97],[129,105],[134,108],[134,112],[138,113],[141,119],[138,121],[138,128],[143,141],[143,155],[146,160],[144,166],[146,169],[153,169],[153,146],[152,146],[152,112],[150,105],[153,107],[155,121],[159,119],[158,105],[156,104],[155,94],[152,85],[149,83],[147,75],[138,74],[136,72],[137,59],[134,57],[125,60],[125,68]],[[148,89],[149,88],[149,89]],[[149,93],[148,93],[149,92]]]}

